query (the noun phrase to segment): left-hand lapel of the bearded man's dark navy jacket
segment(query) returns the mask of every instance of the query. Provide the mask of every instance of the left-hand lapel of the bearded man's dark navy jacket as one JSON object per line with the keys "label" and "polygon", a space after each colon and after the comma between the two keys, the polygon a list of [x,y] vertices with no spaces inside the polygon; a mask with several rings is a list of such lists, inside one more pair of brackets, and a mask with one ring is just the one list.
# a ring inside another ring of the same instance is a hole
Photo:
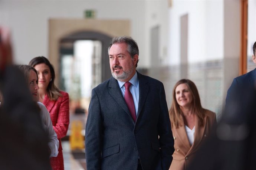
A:
{"label": "left-hand lapel of the bearded man's dark navy jacket", "polygon": [[109,80],[109,94],[115,99],[115,101],[121,106],[122,109],[130,116],[131,121],[134,123],[131,113],[125,103],[124,97],[119,88],[118,82],[115,78],[111,77]]}

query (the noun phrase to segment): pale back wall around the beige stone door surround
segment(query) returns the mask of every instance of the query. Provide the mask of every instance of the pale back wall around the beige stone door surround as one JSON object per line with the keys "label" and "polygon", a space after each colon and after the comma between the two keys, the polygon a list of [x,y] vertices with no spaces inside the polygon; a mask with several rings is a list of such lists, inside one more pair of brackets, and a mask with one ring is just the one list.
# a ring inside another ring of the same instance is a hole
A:
{"label": "pale back wall around the beige stone door surround", "polygon": [[83,18],[95,9],[99,19],[129,19],[140,48],[140,67],[147,67],[144,0],[0,0],[0,25],[12,30],[14,61],[27,64],[48,55],[48,19]]}

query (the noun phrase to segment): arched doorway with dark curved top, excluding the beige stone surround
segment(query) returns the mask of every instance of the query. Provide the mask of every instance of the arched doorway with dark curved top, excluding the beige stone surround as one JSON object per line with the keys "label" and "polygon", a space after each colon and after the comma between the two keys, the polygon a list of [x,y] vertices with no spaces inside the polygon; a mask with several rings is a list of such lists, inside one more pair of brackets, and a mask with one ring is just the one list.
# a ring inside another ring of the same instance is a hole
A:
{"label": "arched doorway with dark curved top, excluding the beige stone surround", "polygon": [[59,43],[59,87],[69,93],[72,112],[84,112],[91,90],[111,76],[108,44],[111,37],[86,31],[63,37]]}

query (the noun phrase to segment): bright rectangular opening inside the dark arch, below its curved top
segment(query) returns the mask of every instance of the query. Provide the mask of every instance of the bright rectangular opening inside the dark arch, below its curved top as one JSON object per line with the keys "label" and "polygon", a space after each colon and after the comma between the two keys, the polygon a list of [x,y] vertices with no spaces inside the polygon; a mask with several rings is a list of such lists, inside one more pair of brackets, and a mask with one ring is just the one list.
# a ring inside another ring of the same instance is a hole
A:
{"label": "bright rectangular opening inside the dark arch, below its curved top", "polygon": [[102,42],[63,39],[59,50],[59,88],[69,93],[71,112],[85,113],[92,88],[102,82]]}

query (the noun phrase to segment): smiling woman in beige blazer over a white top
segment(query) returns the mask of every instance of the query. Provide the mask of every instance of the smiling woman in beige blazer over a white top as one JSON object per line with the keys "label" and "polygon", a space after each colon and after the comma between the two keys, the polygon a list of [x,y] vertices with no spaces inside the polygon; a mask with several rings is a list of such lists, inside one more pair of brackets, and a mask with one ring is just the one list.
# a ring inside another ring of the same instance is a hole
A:
{"label": "smiling woman in beige blazer over a white top", "polygon": [[170,170],[186,170],[198,147],[216,125],[216,115],[202,108],[196,85],[188,79],[175,84],[169,114],[175,148]]}

